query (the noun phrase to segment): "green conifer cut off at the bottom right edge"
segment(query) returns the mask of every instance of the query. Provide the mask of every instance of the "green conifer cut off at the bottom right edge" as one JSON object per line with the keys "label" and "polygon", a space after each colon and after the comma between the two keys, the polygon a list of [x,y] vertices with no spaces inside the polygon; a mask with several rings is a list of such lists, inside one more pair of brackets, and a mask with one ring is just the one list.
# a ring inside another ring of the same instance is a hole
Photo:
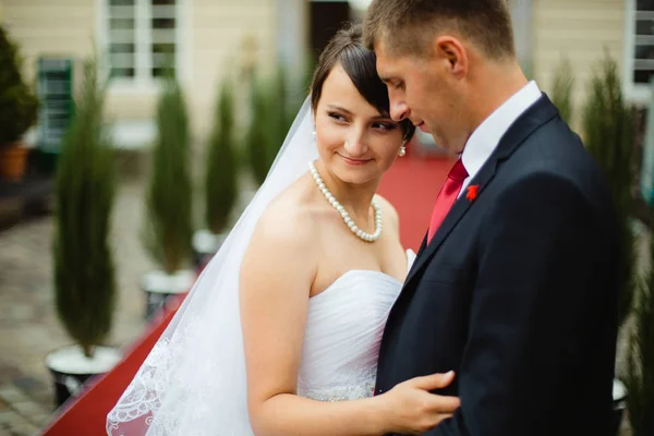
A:
{"label": "green conifer cut off at the bottom right edge", "polygon": [[632,436],[654,435],[654,227],[650,227],[650,270],[634,299],[625,385]]}

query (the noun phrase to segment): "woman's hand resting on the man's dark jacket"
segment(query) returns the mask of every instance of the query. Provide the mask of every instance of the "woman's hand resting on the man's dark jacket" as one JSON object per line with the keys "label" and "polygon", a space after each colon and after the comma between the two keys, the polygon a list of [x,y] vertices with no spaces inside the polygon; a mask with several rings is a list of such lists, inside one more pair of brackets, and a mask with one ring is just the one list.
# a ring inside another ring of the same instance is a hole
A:
{"label": "woman's hand resting on the man's dark jacket", "polygon": [[388,400],[388,413],[392,416],[393,433],[420,435],[437,426],[452,415],[461,405],[458,397],[431,393],[447,387],[455,373],[432,374],[400,383],[380,397]]}

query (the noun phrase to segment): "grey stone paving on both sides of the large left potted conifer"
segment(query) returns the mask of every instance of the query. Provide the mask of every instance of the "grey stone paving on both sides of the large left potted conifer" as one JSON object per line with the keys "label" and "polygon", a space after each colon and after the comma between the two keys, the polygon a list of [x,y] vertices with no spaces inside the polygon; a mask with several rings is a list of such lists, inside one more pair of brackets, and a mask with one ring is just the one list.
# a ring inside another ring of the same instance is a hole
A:
{"label": "grey stone paving on both sides of the large left potted conifer", "polygon": [[[141,246],[143,185],[121,186],[113,215],[118,307],[110,342],[124,346],[144,327],[141,276],[154,267]],[[55,400],[44,364],[71,343],[53,310],[51,240],[44,217],[0,233],[0,435],[27,435],[47,422]]]}

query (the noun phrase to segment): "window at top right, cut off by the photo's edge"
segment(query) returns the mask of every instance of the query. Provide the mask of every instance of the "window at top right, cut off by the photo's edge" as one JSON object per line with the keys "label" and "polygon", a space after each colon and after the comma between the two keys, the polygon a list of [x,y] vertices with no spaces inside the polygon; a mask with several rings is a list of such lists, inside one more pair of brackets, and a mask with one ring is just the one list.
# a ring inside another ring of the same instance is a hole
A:
{"label": "window at top right, cut off by the photo's edge", "polygon": [[626,20],[626,93],[645,102],[654,76],[654,0],[628,0]]}

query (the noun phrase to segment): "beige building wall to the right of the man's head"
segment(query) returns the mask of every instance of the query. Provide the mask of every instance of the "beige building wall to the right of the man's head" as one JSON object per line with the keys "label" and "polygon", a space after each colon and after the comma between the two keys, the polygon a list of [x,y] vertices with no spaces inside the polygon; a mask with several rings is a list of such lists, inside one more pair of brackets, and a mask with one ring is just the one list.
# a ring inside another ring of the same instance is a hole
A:
{"label": "beige building wall to the right of the man's head", "polygon": [[[557,68],[568,58],[574,74],[574,124],[590,78],[605,51],[618,62],[625,97],[645,106],[654,74],[654,8],[640,0],[512,0],[517,45],[541,88],[550,92]],[[650,10],[652,9],[652,10]],[[522,14],[522,15],[521,15]]]}

